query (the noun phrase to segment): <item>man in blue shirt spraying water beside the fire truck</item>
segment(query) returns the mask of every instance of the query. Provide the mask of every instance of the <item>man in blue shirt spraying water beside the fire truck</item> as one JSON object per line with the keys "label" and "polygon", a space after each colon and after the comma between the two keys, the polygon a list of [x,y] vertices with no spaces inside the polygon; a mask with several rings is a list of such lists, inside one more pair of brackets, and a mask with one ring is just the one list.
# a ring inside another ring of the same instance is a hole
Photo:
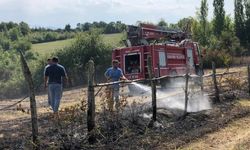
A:
{"label": "man in blue shirt spraying water beside the fire truck", "polygon": [[[119,61],[113,60],[112,67],[108,68],[104,73],[108,81],[115,82],[119,80],[127,80],[127,78],[123,75],[121,68],[119,68],[118,66],[119,66]],[[109,109],[111,111],[113,110],[114,102],[116,103],[115,104],[116,110],[119,109],[119,88],[120,88],[119,83],[115,83],[110,86],[109,90],[111,91],[112,101],[111,104],[109,104],[110,105]]]}

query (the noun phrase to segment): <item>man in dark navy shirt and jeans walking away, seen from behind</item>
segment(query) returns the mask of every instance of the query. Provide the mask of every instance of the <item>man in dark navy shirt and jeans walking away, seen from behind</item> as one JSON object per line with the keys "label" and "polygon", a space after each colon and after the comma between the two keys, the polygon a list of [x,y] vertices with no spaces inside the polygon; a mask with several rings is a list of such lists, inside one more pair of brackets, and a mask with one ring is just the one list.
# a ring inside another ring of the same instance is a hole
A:
{"label": "man in dark navy shirt and jeans walking away, seen from behind", "polygon": [[52,64],[45,69],[44,86],[48,86],[48,99],[56,117],[59,117],[58,109],[62,97],[62,82],[67,81],[67,74],[62,65],[58,64],[58,58],[52,58]]}

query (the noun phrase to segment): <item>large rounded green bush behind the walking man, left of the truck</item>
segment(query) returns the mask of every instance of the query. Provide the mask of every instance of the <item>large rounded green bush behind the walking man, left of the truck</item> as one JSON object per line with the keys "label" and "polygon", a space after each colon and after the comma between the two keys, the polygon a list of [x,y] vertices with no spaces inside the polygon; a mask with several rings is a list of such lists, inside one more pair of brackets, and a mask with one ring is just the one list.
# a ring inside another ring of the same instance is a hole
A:
{"label": "large rounded green bush behind the walking man, left of the truck", "polygon": [[[86,64],[90,58],[95,62],[96,78],[104,79],[104,71],[111,62],[111,46],[106,45],[98,30],[78,34],[72,45],[65,47],[53,54],[59,58],[69,76],[71,86],[87,83]],[[48,57],[47,57],[48,58]],[[36,86],[42,82],[43,69],[47,58],[42,58],[36,63],[34,81]],[[99,80],[99,81],[100,81]]]}

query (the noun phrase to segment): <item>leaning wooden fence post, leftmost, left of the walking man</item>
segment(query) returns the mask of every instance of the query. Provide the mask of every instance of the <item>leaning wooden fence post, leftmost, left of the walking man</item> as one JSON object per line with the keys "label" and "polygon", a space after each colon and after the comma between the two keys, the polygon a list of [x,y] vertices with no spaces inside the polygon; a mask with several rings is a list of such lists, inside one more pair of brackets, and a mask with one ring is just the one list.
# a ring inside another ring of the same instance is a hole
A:
{"label": "leaning wooden fence post, leftmost, left of the walking man", "polygon": [[30,96],[30,110],[31,110],[31,123],[32,123],[32,138],[35,143],[34,149],[39,147],[38,143],[38,124],[37,124],[37,110],[36,110],[36,99],[35,99],[35,88],[32,75],[29,66],[24,58],[21,50],[19,50],[21,65],[25,80],[28,82],[29,86],[29,96]]}

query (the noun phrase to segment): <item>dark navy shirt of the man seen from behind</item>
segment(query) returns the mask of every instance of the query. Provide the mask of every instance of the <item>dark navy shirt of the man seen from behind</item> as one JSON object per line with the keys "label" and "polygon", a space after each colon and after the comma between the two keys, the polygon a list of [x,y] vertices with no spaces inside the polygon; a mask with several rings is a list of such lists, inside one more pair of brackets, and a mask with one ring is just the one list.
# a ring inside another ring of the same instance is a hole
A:
{"label": "dark navy shirt of the man seen from behind", "polygon": [[52,64],[45,68],[45,76],[49,77],[48,84],[62,83],[62,77],[66,76],[65,69],[62,65]]}

